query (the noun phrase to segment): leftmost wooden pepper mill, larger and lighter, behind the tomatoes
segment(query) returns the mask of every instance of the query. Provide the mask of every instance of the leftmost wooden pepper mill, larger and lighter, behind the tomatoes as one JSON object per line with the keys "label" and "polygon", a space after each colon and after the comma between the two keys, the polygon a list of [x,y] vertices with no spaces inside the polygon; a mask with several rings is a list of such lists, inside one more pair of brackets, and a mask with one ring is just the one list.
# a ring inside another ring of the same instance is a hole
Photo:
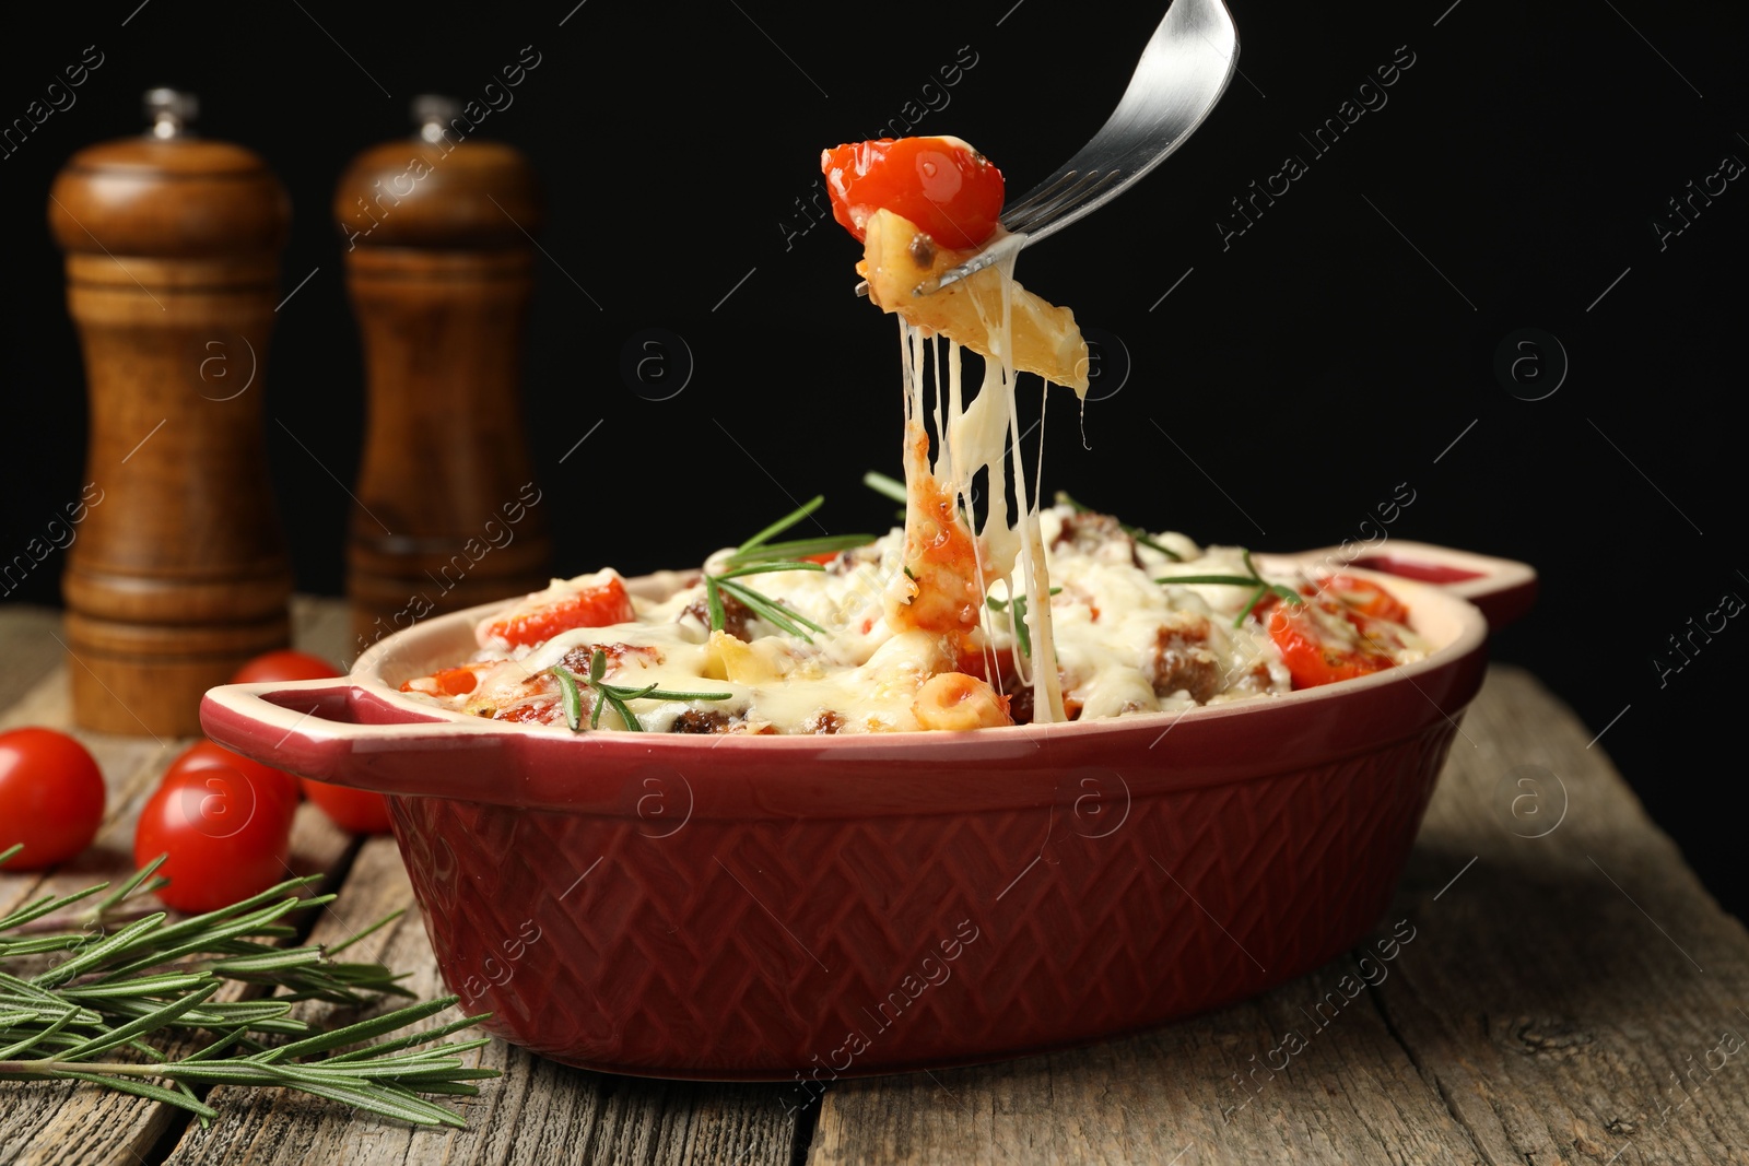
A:
{"label": "leftmost wooden pepper mill, larger and lighter, behind the tomatoes", "polygon": [[91,399],[61,591],[73,718],[185,736],[201,692],[290,636],[261,416],[290,203],[261,157],[187,133],[191,94],[145,100],[147,135],[49,192]]}

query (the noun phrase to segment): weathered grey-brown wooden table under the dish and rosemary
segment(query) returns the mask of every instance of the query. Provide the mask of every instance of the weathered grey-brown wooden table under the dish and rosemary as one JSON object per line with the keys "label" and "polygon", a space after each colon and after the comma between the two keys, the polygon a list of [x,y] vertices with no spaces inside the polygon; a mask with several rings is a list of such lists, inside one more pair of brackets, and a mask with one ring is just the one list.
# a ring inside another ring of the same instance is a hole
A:
{"label": "weathered grey-brown wooden table under the dish and rosemary", "polygon": [[[68,722],[79,664],[56,635],[54,612],[0,608],[0,727]],[[297,635],[339,657],[345,608],[301,601]],[[481,1061],[504,1077],[465,1131],[234,1087],[201,1129],[96,1087],[0,1084],[0,1163],[1749,1163],[1749,935],[1590,738],[1532,677],[1490,671],[1376,930],[1406,920],[1413,939],[1324,1026],[1310,1010],[1371,944],[1160,1031],[843,1080],[799,1115],[782,1086],[607,1077],[495,1042]],[[129,869],[133,818],[184,745],[86,739],[110,781],[98,846],[47,879],[0,876],[0,911]],[[304,806],[294,853],[341,892],[315,940],[413,904],[388,837]],[[442,991],[416,911],[360,947]]]}

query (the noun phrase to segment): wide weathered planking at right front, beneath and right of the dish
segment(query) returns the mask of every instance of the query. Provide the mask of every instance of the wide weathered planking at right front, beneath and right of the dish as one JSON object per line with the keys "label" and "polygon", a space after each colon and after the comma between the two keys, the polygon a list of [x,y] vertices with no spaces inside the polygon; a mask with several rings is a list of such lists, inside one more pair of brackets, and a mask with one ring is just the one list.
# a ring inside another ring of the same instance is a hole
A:
{"label": "wide weathered planking at right front, beneath and right of the dish", "polygon": [[810,1163],[1749,1161],[1749,1056],[1721,1045],[1749,1035],[1749,935],[1588,736],[1490,673],[1373,937],[1415,928],[1389,965],[1362,947],[1163,1031],[840,1082]]}

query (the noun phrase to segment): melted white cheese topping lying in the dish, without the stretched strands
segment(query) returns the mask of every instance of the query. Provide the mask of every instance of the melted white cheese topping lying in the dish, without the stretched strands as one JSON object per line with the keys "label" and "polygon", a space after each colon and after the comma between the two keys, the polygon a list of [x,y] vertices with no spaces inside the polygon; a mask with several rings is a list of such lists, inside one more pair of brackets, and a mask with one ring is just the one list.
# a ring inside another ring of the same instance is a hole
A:
{"label": "melted white cheese topping lying in the dish, without the stretched strands", "polygon": [[[967,456],[960,448],[955,456],[960,458],[958,472]],[[1027,626],[1039,659],[1039,629],[1048,628],[1053,635],[1056,666],[1051,673],[1062,677],[1058,692],[1065,717],[1128,717],[1198,703],[1266,699],[1291,689],[1280,652],[1258,619],[1247,617],[1233,628],[1251,600],[1247,587],[1154,582],[1168,575],[1244,573],[1238,547],[1203,549],[1182,535],[1156,535],[1156,542],[1184,559],[1172,561],[1098,516],[1044,507],[1035,517],[1034,545],[1042,552],[1049,582],[1060,591],[1028,610]],[[1014,563],[1023,554],[1023,538],[1018,530],[1011,535]],[[721,568],[728,554],[712,556],[707,570]],[[749,624],[745,642],[722,633],[714,636],[693,614],[705,596],[703,582],[694,579],[661,601],[633,598],[635,622],[575,628],[532,649],[481,649],[467,663],[477,675],[469,694],[444,696],[429,685],[422,689],[423,682],[413,682],[413,689],[418,699],[444,708],[563,725],[558,682],[546,670],[570,657],[586,671],[588,654],[602,647],[612,659],[605,677],[610,684],[729,694],[726,701],[633,701],[645,729],[684,727],[689,717],[705,718],[708,731],[726,732],[918,729],[913,711],[918,691],[930,677],[958,668],[960,661],[948,636],[888,622],[883,586],[892,577],[904,579],[904,554],[906,531],[894,530],[840,556],[826,572],[761,575],[764,594],[833,629],[829,636],[815,635],[813,643],[757,619]],[[1268,579],[1296,582],[1280,575]],[[568,586],[556,584],[554,594]],[[1007,600],[1025,594],[1021,573],[1013,572],[1013,579],[992,575],[990,593],[1011,612]],[[1034,610],[1046,612],[1048,622],[1034,621]],[[1425,652],[1427,645],[1415,633],[1403,629],[1401,638],[1404,647],[1394,652],[1396,663]],[[724,659],[724,649],[731,659]],[[986,608],[972,654],[1021,657],[1007,615]],[[610,711],[603,713],[602,725],[619,727]]]}

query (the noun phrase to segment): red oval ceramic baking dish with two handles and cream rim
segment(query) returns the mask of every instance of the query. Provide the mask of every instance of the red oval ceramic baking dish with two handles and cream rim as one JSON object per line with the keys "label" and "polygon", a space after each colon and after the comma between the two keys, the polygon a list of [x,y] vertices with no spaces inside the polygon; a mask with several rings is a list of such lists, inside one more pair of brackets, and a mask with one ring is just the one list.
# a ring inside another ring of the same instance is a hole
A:
{"label": "red oval ceramic baking dish with two handles and cream rim", "polygon": [[1375,565],[1438,650],[1186,713],[572,734],[397,691],[472,652],[493,605],[383,640],[341,680],[213,689],[201,720],[390,795],[442,975],[505,1040],[689,1079],[964,1065],[1251,996],[1378,921],[1481,684],[1488,621],[1467,600],[1502,621],[1536,575],[1396,542]]}

